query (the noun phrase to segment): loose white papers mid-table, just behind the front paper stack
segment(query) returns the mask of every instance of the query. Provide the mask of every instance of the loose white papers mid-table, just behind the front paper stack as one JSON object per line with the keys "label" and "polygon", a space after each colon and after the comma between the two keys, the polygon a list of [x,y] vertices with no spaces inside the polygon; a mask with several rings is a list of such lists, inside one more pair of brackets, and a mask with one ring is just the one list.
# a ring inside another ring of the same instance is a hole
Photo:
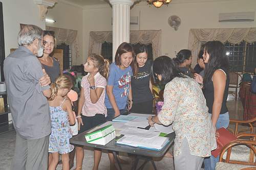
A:
{"label": "loose white papers mid-table, just behind the front paper stack", "polygon": [[160,132],[154,132],[154,131],[148,131],[145,129],[139,129],[139,128],[127,128],[120,131],[122,135],[125,136],[133,136],[133,137],[139,137],[144,139],[151,139],[156,136],[159,136]]}

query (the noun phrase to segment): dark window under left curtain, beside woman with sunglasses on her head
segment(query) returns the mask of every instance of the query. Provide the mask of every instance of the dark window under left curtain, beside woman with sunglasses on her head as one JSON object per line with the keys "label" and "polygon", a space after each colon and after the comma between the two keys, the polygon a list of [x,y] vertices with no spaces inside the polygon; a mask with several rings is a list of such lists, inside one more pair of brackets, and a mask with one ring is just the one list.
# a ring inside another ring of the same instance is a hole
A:
{"label": "dark window under left curtain, beside woman with sunglasses on her head", "polygon": [[71,69],[71,66],[72,66],[72,58],[71,57],[72,57],[72,55],[71,55],[70,45],[62,43],[60,45],[57,45],[56,48],[63,50],[63,70]]}

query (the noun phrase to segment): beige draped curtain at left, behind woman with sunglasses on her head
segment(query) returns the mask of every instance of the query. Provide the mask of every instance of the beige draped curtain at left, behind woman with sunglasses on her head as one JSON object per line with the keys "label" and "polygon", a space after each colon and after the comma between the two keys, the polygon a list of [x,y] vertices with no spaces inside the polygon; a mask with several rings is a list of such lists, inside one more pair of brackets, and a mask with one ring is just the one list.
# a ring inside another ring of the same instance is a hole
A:
{"label": "beige draped curtain at left, behind woman with sunglasses on her head", "polygon": [[56,38],[56,45],[65,43],[71,46],[72,53],[72,65],[76,65],[76,60],[79,57],[79,48],[78,48],[78,36],[76,30],[62,29],[56,27],[46,26],[46,30],[54,31]]}

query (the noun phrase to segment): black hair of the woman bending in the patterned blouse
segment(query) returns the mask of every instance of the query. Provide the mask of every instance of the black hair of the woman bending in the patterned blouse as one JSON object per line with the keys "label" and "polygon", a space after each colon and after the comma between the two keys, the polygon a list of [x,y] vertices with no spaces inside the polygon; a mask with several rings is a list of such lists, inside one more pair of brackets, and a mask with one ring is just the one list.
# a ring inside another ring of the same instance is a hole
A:
{"label": "black hair of the woman bending in the patterned blouse", "polygon": [[157,82],[157,75],[162,76],[161,84],[167,84],[176,77],[186,78],[175,61],[168,56],[160,56],[156,58],[152,66],[153,78]]}

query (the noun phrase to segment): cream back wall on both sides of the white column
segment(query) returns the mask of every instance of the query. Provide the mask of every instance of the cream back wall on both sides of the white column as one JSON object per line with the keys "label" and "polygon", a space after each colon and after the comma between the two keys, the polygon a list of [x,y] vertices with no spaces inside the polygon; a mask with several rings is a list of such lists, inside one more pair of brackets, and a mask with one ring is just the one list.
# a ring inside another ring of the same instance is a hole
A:
{"label": "cream back wall on both sides of the white column", "polygon": [[[182,3],[179,3],[182,2]],[[184,3],[190,2],[190,3]],[[193,2],[193,3],[191,3]],[[226,22],[218,21],[219,13],[223,12],[251,12],[255,11],[254,0],[190,0],[173,1],[169,6],[157,9],[139,3],[131,9],[131,16],[140,16],[140,25],[132,26],[131,30],[162,30],[162,55],[175,57],[175,52],[187,48],[189,29],[196,28],[248,28],[256,27],[256,17],[253,22]],[[168,25],[168,17],[178,15],[181,26],[175,31]],[[111,31],[112,9],[92,9],[89,6],[83,11],[83,40],[84,54],[88,53],[90,31]],[[92,19],[93,18],[93,19]],[[84,60],[83,60],[84,61]]]}

